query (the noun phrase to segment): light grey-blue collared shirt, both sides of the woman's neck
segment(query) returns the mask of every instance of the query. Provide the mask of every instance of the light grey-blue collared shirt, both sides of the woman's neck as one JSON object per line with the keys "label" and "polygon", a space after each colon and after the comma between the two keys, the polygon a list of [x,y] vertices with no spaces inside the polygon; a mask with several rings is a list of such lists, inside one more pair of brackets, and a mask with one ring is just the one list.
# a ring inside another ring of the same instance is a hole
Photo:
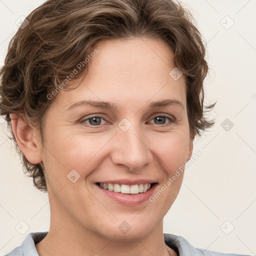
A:
{"label": "light grey-blue collared shirt, both sides of the woman's neck", "polygon": [[[31,232],[21,245],[4,256],[39,256],[35,243],[41,241],[48,232]],[[249,256],[233,253],[221,253],[193,247],[185,238],[175,234],[163,234],[165,244],[176,251],[179,256]]]}

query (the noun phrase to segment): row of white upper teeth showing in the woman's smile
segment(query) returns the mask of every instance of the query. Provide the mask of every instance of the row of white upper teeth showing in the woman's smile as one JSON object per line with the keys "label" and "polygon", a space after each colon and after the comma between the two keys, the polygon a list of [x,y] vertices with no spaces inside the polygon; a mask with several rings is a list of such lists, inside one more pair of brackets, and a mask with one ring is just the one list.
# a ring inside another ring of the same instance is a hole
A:
{"label": "row of white upper teeth showing in the woman's smile", "polygon": [[116,183],[99,183],[99,186],[108,189],[109,191],[121,192],[124,194],[138,194],[147,191],[150,188],[150,183],[135,184],[131,186]]}

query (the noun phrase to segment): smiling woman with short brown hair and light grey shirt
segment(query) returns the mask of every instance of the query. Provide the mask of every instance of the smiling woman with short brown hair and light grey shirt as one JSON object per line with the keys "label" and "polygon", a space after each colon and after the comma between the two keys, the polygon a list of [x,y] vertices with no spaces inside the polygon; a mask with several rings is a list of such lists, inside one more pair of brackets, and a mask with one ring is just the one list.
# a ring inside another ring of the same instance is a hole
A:
{"label": "smiling woman with short brown hair and light grey shirt", "polygon": [[49,195],[50,228],[7,255],[224,255],[162,229],[193,139],[214,124],[204,54],[171,0],[48,0],[26,17],[0,114]]}

